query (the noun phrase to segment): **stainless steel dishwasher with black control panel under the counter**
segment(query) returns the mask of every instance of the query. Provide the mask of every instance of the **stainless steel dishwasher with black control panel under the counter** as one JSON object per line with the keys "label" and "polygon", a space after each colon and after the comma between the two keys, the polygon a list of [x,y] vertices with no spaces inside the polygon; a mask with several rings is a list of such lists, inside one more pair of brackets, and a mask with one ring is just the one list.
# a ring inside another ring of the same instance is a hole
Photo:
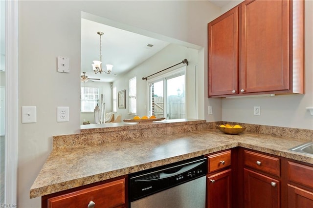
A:
{"label": "stainless steel dishwasher with black control panel under the counter", "polygon": [[205,208],[206,170],[198,158],[130,175],[130,208]]}

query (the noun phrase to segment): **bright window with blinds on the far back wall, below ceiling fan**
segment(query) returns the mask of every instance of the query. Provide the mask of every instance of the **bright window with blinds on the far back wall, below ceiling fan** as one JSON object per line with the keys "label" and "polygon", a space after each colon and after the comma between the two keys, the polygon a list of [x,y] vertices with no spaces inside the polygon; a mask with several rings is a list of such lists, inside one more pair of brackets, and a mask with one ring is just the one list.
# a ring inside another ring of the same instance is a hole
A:
{"label": "bright window with blinds on the far back wall, below ceiling fan", "polygon": [[99,88],[81,87],[81,112],[93,112],[99,102]]}

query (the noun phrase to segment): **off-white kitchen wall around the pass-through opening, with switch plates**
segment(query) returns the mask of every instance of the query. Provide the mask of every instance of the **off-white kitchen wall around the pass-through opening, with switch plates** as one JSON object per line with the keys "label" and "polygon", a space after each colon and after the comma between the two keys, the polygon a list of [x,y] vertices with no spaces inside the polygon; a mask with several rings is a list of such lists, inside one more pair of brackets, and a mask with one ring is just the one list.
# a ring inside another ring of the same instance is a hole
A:
{"label": "off-white kitchen wall around the pass-through opening, with switch plates", "polygon": [[[81,11],[205,48],[207,23],[220,14],[208,1],[19,1],[19,106],[37,106],[37,123],[19,125],[21,208],[41,206],[39,197],[29,199],[29,189],[52,136],[80,132]],[[203,62],[207,50],[200,54]],[[70,59],[70,73],[56,71],[57,56]],[[206,58],[202,73],[205,65]],[[57,106],[69,106],[68,123],[56,122]]]}

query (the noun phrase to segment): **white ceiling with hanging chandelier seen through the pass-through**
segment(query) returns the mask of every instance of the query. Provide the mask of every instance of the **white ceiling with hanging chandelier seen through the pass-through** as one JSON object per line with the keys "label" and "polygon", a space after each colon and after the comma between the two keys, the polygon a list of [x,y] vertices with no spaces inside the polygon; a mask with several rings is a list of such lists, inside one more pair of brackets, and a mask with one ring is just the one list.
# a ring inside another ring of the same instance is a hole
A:
{"label": "white ceiling with hanging chandelier seen through the pass-through", "polygon": [[[93,61],[100,60],[100,36],[97,34],[99,31],[104,33],[102,36],[103,67],[105,68],[105,64],[113,65],[110,75],[94,74],[92,71]],[[86,19],[82,19],[81,35],[81,75],[84,71],[88,78],[98,78],[101,79],[100,82],[113,82],[118,76],[133,69],[170,44]],[[148,44],[154,46],[148,47]]]}

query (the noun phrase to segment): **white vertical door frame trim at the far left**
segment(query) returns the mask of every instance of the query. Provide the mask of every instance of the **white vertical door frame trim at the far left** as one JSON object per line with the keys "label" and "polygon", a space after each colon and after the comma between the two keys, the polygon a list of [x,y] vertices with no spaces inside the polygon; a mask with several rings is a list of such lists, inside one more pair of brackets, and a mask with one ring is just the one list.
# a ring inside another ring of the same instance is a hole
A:
{"label": "white vertical door frame trim at the far left", "polygon": [[5,18],[5,183],[4,203],[17,205],[18,1],[6,1]]}

